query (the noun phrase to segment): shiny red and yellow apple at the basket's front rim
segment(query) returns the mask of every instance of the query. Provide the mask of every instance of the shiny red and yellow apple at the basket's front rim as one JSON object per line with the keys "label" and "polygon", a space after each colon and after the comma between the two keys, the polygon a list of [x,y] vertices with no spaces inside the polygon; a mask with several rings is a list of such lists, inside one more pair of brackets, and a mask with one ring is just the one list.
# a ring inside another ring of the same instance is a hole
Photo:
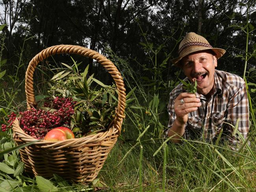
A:
{"label": "shiny red and yellow apple at the basket's front rim", "polygon": [[48,141],[62,141],[69,138],[75,138],[75,136],[67,127],[56,127],[45,135],[45,140]]}

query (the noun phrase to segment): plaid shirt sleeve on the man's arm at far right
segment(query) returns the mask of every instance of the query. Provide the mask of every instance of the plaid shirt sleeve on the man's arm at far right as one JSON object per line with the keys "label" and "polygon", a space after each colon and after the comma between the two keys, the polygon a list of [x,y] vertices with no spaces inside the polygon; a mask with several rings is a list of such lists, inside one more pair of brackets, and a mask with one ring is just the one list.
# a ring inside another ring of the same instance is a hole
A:
{"label": "plaid shirt sleeve on the man's arm at far right", "polygon": [[[246,138],[249,132],[249,102],[245,84],[237,90],[227,104],[227,122],[236,126],[237,120],[239,120],[237,131],[241,133],[243,138]],[[233,150],[239,149],[241,138],[237,133],[233,136],[234,129],[232,126],[228,125],[227,128],[229,132],[228,140],[232,144],[231,148]]]}

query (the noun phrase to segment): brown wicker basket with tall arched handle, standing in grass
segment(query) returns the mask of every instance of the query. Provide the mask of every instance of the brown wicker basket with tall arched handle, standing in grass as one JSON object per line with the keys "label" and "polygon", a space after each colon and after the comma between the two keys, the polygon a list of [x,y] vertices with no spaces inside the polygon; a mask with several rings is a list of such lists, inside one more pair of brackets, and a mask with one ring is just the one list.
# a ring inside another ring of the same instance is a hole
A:
{"label": "brown wicker basket with tall arched handle, standing in grass", "polygon": [[[35,104],[33,91],[33,72],[40,61],[55,54],[78,54],[95,59],[103,65],[114,79],[118,90],[118,105],[113,125],[105,132],[63,141],[41,141],[20,149],[20,156],[25,163],[26,172],[43,177],[52,174],[74,182],[89,183],[98,175],[109,151],[113,148],[121,133],[126,94],[121,74],[113,63],[103,55],[74,45],[57,45],[46,48],[30,61],[26,71],[26,100],[31,109]],[[24,144],[36,139],[24,133],[16,119],[13,122],[13,137],[17,144]]]}

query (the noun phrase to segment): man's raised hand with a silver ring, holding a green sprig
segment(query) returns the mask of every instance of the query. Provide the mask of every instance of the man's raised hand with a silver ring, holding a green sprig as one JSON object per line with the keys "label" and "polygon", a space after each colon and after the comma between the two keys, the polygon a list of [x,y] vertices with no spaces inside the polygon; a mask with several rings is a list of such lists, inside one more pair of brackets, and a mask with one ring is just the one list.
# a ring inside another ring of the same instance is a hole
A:
{"label": "man's raised hand with a silver ring, holding a green sprig", "polygon": [[179,124],[186,124],[188,113],[196,111],[201,106],[200,99],[193,93],[181,93],[174,100],[174,111]]}

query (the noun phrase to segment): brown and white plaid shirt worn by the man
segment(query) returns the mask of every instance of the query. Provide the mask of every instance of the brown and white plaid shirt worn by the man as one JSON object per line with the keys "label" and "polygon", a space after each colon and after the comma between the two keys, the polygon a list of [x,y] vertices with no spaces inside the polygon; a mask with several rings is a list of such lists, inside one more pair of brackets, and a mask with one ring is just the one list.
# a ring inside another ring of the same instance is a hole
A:
{"label": "brown and white plaid shirt worn by the man", "polygon": [[[188,81],[188,78],[184,80]],[[181,92],[186,92],[182,89],[182,83],[170,93],[168,105],[170,120],[166,135],[176,119],[173,105],[175,98]],[[232,136],[233,127],[229,124],[235,126],[239,118],[237,131],[244,138],[247,137],[249,131],[249,104],[245,81],[237,75],[215,70],[213,95],[208,100],[198,93],[196,97],[200,98],[202,105],[197,111],[188,114],[184,138],[190,140],[204,138],[206,142],[213,142],[223,128],[222,138],[228,138],[233,146],[232,149],[235,150],[234,146],[239,143],[239,137],[237,134]]]}

